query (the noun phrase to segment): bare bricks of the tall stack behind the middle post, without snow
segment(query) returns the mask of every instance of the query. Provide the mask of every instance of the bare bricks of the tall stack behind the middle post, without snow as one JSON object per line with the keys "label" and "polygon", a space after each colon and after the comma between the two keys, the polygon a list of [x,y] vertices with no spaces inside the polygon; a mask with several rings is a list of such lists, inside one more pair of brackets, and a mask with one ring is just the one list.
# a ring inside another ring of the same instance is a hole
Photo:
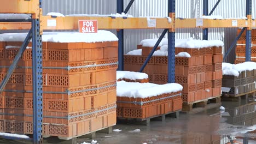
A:
{"label": "bare bricks of the tall stack behind the middle post, without snow", "polygon": [[[142,53],[143,50],[142,48]],[[188,52],[191,55],[191,58],[176,57],[175,82],[183,86],[183,102],[189,103],[221,95],[222,47],[203,49],[176,47],[176,55],[179,52]],[[124,69],[138,71],[146,58],[147,56],[125,55]],[[167,83],[167,62],[167,56],[153,56],[149,60],[143,71],[149,75],[149,82]]]}

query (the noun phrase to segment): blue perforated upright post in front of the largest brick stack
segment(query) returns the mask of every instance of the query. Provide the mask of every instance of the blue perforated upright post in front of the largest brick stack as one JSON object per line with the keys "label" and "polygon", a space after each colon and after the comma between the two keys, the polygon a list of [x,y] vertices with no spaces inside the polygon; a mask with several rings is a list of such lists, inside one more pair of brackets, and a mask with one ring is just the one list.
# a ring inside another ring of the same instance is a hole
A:
{"label": "blue perforated upright post in front of the largest brick stack", "polygon": [[[41,8],[39,0],[39,8]],[[39,17],[39,16],[38,16]],[[43,143],[42,35],[40,19],[32,19],[33,143]]]}

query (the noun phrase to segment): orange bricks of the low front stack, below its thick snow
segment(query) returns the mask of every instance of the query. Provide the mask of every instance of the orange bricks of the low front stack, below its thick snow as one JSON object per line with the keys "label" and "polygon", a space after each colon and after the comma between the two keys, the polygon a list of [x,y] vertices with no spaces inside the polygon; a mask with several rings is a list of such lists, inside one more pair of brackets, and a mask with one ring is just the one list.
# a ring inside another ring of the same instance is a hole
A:
{"label": "orange bricks of the low front stack, below its thick snow", "polygon": [[[119,85],[119,84],[118,84]],[[130,83],[133,85],[133,83]],[[126,86],[128,86],[126,84]],[[159,87],[158,91],[161,88]],[[117,117],[146,119],[182,109],[181,91],[164,93],[147,98],[117,95]]]}

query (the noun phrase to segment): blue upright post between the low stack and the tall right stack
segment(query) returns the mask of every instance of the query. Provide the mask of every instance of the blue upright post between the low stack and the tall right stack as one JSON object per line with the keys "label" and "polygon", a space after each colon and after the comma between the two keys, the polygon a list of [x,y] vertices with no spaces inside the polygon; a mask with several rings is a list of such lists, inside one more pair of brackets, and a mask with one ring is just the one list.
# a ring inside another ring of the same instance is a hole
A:
{"label": "blue upright post between the low stack and the tall right stack", "polygon": [[[168,15],[175,19],[175,1],[168,0]],[[175,82],[175,29],[168,31],[168,83]]]}

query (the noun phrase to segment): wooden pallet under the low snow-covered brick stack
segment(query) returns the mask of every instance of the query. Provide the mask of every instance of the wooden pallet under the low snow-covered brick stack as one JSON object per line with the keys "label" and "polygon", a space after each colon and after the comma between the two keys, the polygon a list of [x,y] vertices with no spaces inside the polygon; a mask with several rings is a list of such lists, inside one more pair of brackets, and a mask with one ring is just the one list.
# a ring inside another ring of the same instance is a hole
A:
{"label": "wooden pallet under the low snow-covered brick stack", "polygon": [[139,125],[150,125],[150,121],[162,121],[165,122],[166,117],[175,117],[179,118],[179,112],[178,111],[172,111],[168,112],[162,115],[156,115],[148,118],[123,118],[123,117],[118,117],[118,123],[132,123],[132,124],[139,124]]}

